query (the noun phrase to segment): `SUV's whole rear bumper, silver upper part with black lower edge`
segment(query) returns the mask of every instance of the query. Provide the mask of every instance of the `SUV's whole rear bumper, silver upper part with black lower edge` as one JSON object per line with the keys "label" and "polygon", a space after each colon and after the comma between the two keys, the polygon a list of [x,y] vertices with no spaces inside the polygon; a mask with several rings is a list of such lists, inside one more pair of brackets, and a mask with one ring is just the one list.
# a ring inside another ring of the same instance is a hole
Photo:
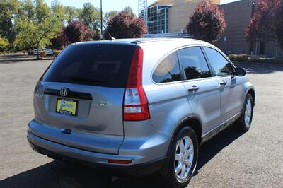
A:
{"label": "SUV's whole rear bumper, silver upper part with black lower edge", "polygon": [[[158,140],[155,136],[152,136],[153,140],[147,137],[146,142],[142,142],[137,138],[125,138],[118,154],[100,153],[78,148],[75,145],[73,145],[74,147],[67,146],[42,137],[40,136],[41,134],[37,135],[38,129],[37,131],[33,129],[35,128],[33,127],[35,126],[35,122],[34,120],[32,122],[32,124],[29,124],[27,136],[30,146],[38,153],[48,155],[50,158],[75,161],[91,166],[101,166],[103,168],[115,168],[134,176],[156,172],[163,167],[166,161],[166,154],[164,154],[167,151],[165,146],[166,139],[161,139],[162,137],[160,135],[158,135]],[[37,124],[37,126],[40,126],[40,124]],[[42,126],[41,129],[45,129],[44,127]],[[44,132],[43,130],[41,131],[41,133]],[[110,142],[111,140],[108,140],[108,144]],[[109,163],[108,160],[131,160],[132,162],[121,164]]]}

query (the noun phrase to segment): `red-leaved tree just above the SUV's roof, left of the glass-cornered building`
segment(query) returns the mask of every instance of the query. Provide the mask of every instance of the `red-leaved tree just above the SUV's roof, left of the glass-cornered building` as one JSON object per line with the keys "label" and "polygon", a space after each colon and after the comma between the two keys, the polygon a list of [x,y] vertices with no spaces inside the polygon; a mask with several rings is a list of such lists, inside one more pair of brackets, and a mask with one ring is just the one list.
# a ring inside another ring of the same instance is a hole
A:
{"label": "red-leaved tree just above the SUV's roof, left of the glass-cornered building", "polygon": [[[107,30],[115,38],[139,38],[147,33],[144,20],[137,18],[129,11],[121,11],[110,18],[107,23]],[[104,33],[104,37],[109,38],[108,33]]]}

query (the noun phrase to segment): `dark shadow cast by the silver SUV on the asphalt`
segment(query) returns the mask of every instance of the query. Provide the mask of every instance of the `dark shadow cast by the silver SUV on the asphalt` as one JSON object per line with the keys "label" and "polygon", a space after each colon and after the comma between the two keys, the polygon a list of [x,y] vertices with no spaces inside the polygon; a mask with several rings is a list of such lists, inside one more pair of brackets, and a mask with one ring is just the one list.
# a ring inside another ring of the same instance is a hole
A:
{"label": "dark shadow cast by the silver SUV on the asphalt", "polygon": [[[231,126],[200,148],[197,170],[242,134]],[[40,155],[38,155],[40,157]],[[196,170],[196,171],[197,171]],[[196,173],[197,175],[197,173]],[[0,187],[163,187],[157,175],[113,177],[112,172],[53,161],[0,181]]]}

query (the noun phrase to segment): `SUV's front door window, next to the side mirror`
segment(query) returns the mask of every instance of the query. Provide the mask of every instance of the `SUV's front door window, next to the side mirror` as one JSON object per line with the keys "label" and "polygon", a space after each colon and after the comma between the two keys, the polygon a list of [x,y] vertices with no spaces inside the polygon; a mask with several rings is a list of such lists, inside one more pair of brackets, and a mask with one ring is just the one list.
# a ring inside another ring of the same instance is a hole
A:
{"label": "SUV's front door window, next to the side mirror", "polygon": [[233,66],[222,56],[222,54],[209,47],[204,47],[204,51],[207,54],[210,64],[212,64],[216,76],[233,74]]}

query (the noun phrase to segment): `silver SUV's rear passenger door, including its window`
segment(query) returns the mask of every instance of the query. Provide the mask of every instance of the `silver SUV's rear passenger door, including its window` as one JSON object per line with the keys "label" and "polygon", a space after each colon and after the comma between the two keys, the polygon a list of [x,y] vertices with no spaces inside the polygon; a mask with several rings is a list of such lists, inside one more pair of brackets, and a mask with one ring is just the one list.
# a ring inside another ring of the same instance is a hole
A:
{"label": "silver SUV's rear passenger door, including its window", "polygon": [[209,66],[200,47],[180,49],[187,101],[192,112],[202,121],[202,134],[220,123],[220,91],[216,78],[212,78]]}

